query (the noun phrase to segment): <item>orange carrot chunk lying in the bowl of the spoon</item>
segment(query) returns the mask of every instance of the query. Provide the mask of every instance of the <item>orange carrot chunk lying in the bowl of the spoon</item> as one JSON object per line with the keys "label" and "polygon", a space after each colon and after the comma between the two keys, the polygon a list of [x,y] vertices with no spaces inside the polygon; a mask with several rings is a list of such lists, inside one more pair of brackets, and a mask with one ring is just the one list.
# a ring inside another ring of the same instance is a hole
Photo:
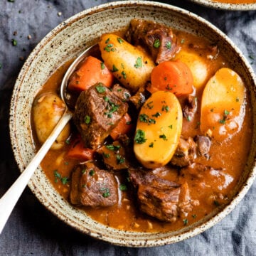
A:
{"label": "orange carrot chunk lying in the bowl of the spoon", "polygon": [[110,87],[113,80],[114,76],[101,60],[88,56],[70,78],[68,88],[78,91],[87,90],[97,82]]}

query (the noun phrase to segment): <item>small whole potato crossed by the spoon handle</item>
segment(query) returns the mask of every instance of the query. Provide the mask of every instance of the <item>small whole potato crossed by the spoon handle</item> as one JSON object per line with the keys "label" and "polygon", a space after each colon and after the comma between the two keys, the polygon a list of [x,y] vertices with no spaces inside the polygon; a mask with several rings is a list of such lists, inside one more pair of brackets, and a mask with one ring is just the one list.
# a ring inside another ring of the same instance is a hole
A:
{"label": "small whole potato crossed by the spoon handle", "polygon": [[[65,111],[65,104],[53,92],[46,92],[36,97],[33,102],[33,123],[35,124],[38,141],[43,144],[49,137],[55,125],[58,123]],[[65,140],[70,135],[70,124],[67,124],[51,149],[61,149],[65,145]]]}

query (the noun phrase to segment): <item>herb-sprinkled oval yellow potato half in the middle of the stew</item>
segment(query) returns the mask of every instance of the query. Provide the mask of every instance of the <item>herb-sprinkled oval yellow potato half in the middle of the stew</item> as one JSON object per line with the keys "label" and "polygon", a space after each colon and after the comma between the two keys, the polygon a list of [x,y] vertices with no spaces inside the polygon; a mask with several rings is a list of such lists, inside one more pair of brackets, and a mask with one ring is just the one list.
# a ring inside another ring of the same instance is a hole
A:
{"label": "herb-sprinkled oval yellow potato half in the middle of the stew", "polygon": [[134,153],[146,168],[167,164],[176,151],[182,129],[182,110],[168,91],[154,92],[144,103],[137,120]]}

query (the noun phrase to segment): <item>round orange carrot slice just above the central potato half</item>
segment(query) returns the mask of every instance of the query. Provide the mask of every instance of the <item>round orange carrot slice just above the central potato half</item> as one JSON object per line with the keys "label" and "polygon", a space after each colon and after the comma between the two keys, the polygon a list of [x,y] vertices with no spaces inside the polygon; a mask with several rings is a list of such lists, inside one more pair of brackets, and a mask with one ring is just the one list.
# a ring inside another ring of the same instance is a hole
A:
{"label": "round orange carrot slice just above the central potato half", "polygon": [[151,85],[147,88],[153,93],[165,90],[174,93],[177,97],[193,92],[193,75],[188,66],[181,62],[164,61],[151,72]]}

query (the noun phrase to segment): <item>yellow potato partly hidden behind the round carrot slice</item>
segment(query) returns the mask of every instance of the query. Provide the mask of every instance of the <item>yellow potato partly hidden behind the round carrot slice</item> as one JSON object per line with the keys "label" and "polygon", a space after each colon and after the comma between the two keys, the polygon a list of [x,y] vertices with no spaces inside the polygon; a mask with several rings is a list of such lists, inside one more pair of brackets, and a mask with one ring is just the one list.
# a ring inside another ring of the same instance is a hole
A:
{"label": "yellow potato partly hidden behind the round carrot slice", "polygon": [[193,86],[200,88],[206,84],[208,78],[208,68],[206,59],[196,53],[189,53],[187,50],[181,50],[176,55],[177,60],[181,60],[188,65],[193,75]]}

